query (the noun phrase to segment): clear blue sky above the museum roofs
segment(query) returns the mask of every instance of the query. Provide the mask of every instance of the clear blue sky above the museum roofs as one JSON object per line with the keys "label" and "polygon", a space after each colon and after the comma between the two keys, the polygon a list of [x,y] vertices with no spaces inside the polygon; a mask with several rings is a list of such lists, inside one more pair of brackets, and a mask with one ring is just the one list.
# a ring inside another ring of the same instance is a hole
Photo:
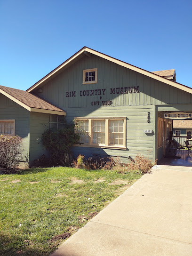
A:
{"label": "clear blue sky above the museum roofs", "polygon": [[192,0],[0,0],[0,85],[26,90],[83,46],[192,87]]}

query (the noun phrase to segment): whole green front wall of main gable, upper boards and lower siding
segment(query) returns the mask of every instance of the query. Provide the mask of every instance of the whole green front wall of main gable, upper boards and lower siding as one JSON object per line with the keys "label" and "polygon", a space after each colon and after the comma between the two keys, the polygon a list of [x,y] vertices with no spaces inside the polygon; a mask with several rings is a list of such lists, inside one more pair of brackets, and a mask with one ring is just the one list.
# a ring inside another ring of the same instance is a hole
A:
{"label": "whole green front wall of main gable, upper boards and lower siding", "polygon": [[[83,70],[91,68],[98,68],[97,83],[84,85]],[[139,93],[134,93],[134,87],[138,87]],[[94,55],[82,57],[40,88],[42,93],[38,93],[38,90],[34,93],[64,109],[68,121],[85,116],[127,117],[127,150],[73,147],[75,155],[81,153],[88,157],[107,154],[121,156],[125,161],[128,156],[134,158],[137,153],[149,156],[152,160],[161,155],[160,150],[157,151],[155,136],[157,122],[154,120],[157,121],[158,117],[155,104],[192,103],[189,93]],[[90,95],[91,90],[93,95]],[[103,106],[102,101],[112,101],[112,104]],[[98,102],[97,105],[93,105],[95,102]],[[147,122],[148,112],[151,113],[150,124]],[[153,133],[145,134],[144,129],[152,129]]]}

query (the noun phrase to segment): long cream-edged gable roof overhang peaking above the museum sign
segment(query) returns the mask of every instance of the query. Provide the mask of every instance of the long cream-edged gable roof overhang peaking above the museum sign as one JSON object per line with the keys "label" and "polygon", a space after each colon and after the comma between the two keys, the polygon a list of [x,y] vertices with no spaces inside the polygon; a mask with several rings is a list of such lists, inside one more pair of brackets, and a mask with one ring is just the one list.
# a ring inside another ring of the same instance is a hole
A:
{"label": "long cream-edged gable roof overhang peaking above the museum sign", "polygon": [[85,55],[88,55],[90,56],[90,54],[94,54],[96,56],[99,56],[101,58],[104,58],[106,60],[109,60],[113,63],[116,63],[120,66],[123,66],[123,67],[126,67],[128,69],[131,69],[133,71],[136,71],[138,73],[141,73],[141,74],[144,74],[148,77],[151,77],[155,80],[158,80],[160,82],[163,82],[163,83],[166,83],[170,86],[173,86],[173,87],[176,87],[176,88],[179,88],[183,91],[186,91],[188,93],[191,93],[192,94],[192,88],[190,87],[187,87],[183,84],[180,84],[180,83],[177,83],[175,81],[172,81],[172,80],[169,80],[165,77],[162,77],[158,74],[155,74],[153,72],[149,72],[149,71],[146,71],[144,69],[141,69],[141,68],[138,68],[134,65],[131,65],[131,64],[128,64],[126,62],[123,62],[123,61],[120,61],[118,59],[115,59],[113,57],[110,57],[108,55],[105,55],[103,53],[100,53],[98,51],[95,51],[91,48],[88,48],[86,46],[84,46],[83,48],[81,48],[77,53],[75,53],[73,56],[71,56],[69,59],[67,59],[64,63],[62,63],[61,65],[59,65],[58,67],[56,67],[56,69],[54,69],[53,71],[51,71],[50,73],[48,73],[45,77],[43,77],[41,80],[39,80],[37,83],[35,83],[32,87],[30,87],[29,89],[27,89],[26,91],[27,92],[32,92],[32,90],[34,90],[35,88],[37,88],[38,86],[42,86],[44,85],[45,83],[47,83],[49,80],[53,79],[56,75],[58,75],[60,72],[63,72],[66,68],[68,68],[70,65],[72,65],[74,62],[76,62],[77,60],[79,60],[81,57],[85,56]]}

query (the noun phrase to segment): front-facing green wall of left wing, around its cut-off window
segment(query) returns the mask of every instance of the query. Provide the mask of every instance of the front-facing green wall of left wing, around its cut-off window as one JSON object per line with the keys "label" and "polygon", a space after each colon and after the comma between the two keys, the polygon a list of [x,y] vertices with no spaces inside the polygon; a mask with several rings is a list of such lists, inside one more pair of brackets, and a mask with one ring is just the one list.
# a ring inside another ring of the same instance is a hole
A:
{"label": "front-facing green wall of left wing, around its cut-off window", "polygon": [[0,94],[0,119],[15,120],[15,135],[23,138],[23,161],[27,161],[29,159],[29,111]]}

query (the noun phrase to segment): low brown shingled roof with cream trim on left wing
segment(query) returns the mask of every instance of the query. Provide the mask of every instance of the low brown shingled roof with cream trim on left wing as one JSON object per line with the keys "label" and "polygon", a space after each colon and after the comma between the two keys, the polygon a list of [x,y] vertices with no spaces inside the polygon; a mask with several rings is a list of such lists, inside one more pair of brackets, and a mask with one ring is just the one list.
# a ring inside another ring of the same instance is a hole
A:
{"label": "low brown shingled roof with cream trim on left wing", "polygon": [[9,99],[13,100],[30,112],[58,115],[66,114],[62,109],[56,107],[48,101],[23,90],[0,86],[0,93],[7,96]]}

